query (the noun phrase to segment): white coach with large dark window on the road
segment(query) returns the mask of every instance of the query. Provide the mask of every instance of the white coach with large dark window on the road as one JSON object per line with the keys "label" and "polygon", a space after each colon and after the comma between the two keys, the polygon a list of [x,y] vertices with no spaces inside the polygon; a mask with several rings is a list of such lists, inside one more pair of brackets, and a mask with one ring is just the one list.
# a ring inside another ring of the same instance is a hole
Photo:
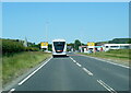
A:
{"label": "white coach with large dark window on the road", "polygon": [[52,40],[52,56],[67,56],[67,43],[64,39]]}

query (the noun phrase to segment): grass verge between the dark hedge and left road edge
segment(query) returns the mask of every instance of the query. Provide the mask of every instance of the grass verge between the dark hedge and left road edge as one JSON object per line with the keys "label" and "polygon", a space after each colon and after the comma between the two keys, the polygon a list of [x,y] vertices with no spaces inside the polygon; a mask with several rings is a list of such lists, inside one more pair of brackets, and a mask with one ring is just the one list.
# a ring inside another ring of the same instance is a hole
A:
{"label": "grass verge between the dark hedge and left road edge", "polygon": [[49,58],[51,54],[43,51],[23,51],[13,56],[2,57],[2,84],[3,86],[20,77],[31,68]]}

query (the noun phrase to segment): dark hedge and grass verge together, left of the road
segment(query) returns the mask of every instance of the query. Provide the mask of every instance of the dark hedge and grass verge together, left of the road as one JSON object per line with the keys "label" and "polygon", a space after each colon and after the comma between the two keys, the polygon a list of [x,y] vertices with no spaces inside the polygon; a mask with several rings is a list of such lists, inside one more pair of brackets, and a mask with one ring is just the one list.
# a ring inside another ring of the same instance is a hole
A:
{"label": "dark hedge and grass verge together, left of the road", "polygon": [[23,40],[20,39],[1,38],[0,40],[2,42],[0,43],[0,49],[2,48],[2,55],[0,56],[2,68],[0,67],[0,69],[2,69],[3,85],[34,68],[51,55],[40,51],[40,44],[27,43],[28,47],[24,47]]}

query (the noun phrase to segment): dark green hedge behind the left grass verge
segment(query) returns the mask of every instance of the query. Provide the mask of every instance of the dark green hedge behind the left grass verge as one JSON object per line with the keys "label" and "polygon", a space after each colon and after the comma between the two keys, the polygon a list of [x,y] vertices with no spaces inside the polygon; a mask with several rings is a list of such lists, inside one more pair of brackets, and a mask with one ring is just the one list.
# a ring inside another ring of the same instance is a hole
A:
{"label": "dark green hedge behind the left grass verge", "polygon": [[12,56],[13,54],[22,51],[38,51],[37,47],[24,47],[23,42],[19,39],[1,39],[2,40],[2,55]]}

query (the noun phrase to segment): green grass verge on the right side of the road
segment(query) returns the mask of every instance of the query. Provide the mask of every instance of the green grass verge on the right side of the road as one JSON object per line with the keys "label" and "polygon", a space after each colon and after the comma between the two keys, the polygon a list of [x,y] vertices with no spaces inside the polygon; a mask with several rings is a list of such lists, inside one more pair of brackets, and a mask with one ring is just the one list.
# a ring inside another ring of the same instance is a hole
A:
{"label": "green grass verge on the right side of the road", "polygon": [[121,63],[124,66],[129,66],[131,63],[131,49],[118,49],[118,50],[109,50],[109,51],[100,51],[100,53],[79,53],[81,55],[103,58],[107,60],[111,60],[112,62]]}

